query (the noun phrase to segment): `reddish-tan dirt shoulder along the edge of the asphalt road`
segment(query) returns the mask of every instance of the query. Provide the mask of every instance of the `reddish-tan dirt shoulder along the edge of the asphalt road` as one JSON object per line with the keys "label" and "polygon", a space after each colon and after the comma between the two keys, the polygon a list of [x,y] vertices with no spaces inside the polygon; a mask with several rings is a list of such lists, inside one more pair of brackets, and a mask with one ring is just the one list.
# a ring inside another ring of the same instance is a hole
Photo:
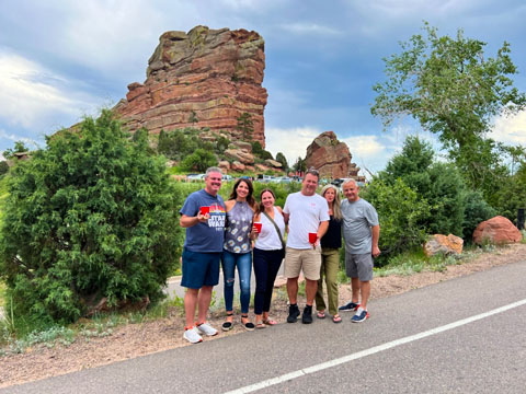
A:
{"label": "reddish-tan dirt shoulder along the edge of the asphalt road", "polygon": [[[515,244],[492,253],[482,253],[469,263],[448,266],[443,273],[425,271],[411,276],[392,275],[375,278],[371,282],[371,298],[379,299],[400,294],[494,266],[517,263],[525,258],[526,244]],[[284,323],[287,316],[286,297],[283,292],[282,294],[276,297],[272,311],[272,317],[278,323]],[[342,285],[340,287],[341,304],[348,301],[350,298],[348,286]],[[300,304],[305,303],[304,300],[299,301]],[[222,320],[224,312],[218,311],[211,314],[209,322],[215,327],[219,327]],[[239,324],[239,316],[236,323],[232,331],[229,333],[220,332],[215,338],[243,332]],[[368,324],[374,324],[374,321]],[[187,343],[182,338],[183,327],[184,322],[180,312],[172,309],[165,318],[121,326],[106,337],[82,337],[67,347],[57,345],[54,348],[46,348],[41,345],[27,349],[24,354],[0,357],[0,387],[186,346]],[[258,332],[254,332],[254,335],[258,335]],[[205,340],[214,340],[215,338],[206,338]]]}

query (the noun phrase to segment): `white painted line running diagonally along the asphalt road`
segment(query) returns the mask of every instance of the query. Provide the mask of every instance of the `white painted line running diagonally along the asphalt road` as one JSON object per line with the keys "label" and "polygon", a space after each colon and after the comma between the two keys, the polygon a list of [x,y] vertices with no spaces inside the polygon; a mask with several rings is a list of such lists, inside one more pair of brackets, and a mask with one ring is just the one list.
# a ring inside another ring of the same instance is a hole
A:
{"label": "white painted line running diagonally along the asphalt road", "polygon": [[336,366],[340,366],[340,364],[345,363],[345,362],[357,360],[362,357],[367,357],[367,356],[370,356],[370,355],[374,355],[374,354],[377,354],[377,352],[380,352],[380,351],[384,351],[384,350],[391,349],[391,348],[400,346],[400,345],[409,344],[411,341],[419,340],[419,339],[422,339],[422,338],[425,338],[425,337],[428,337],[428,336],[432,336],[432,335],[435,335],[435,334],[444,333],[446,331],[457,328],[457,327],[460,327],[462,325],[466,325],[466,324],[469,324],[469,323],[472,323],[472,322],[477,322],[479,320],[495,315],[498,313],[506,312],[511,309],[518,308],[518,306],[522,306],[524,304],[526,304],[526,299],[517,301],[517,302],[513,302],[511,304],[507,304],[507,305],[504,305],[504,306],[501,306],[501,308],[498,308],[498,309],[494,309],[494,310],[491,310],[489,312],[484,312],[484,313],[481,313],[481,314],[478,314],[478,315],[474,315],[474,316],[471,316],[471,317],[462,318],[462,320],[459,320],[457,322],[453,322],[453,323],[449,323],[449,324],[446,324],[446,325],[443,325],[443,326],[439,326],[439,327],[436,327],[436,328],[432,328],[432,329],[428,329],[428,331],[425,331],[425,332],[422,332],[422,333],[419,333],[419,334],[410,335],[410,336],[407,336],[407,337],[403,337],[403,338],[400,338],[400,339],[395,339],[395,340],[391,340],[387,344],[378,345],[378,346],[375,346],[375,347],[371,347],[369,349],[365,349],[365,350],[362,350],[362,351],[358,351],[358,352],[355,352],[355,354],[352,354],[352,355],[340,357],[338,359],[325,361],[325,362],[322,362],[322,363],[319,363],[319,364],[316,364],[316,366],[312,366],[312,367],[304,368],[304,369],[300,369],[300,370],[297,370],[297,371],[294,371],[294,372],[283,374],[281,376],[267,379],[267,380],[261,381],[259,383],[254,383],[254,384],[251,384],[251,385],[248,385],[248,386],[244,386],[244,387],[232,390],[232,391],[229,391],[225,394],[252,393],[254,391],[265,389],[265,387],[270,387],[272,385],[279,384],[279,383],[296,379],[296,378],[301,378],[301,376],[304,376],[306,374],[309,374],[309,373],[315,373],[315,372],[318,372],[318,371],[322,371],[322,370],[331,368],[331,367],[336,367]]}

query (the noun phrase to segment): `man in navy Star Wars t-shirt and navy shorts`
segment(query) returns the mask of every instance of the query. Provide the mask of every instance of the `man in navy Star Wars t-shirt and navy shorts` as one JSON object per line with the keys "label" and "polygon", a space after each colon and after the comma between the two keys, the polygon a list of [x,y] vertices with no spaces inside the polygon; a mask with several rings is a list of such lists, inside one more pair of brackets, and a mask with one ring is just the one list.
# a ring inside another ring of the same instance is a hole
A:
{"label": "man in navy Star Wars t-shirt and navy shorts", "polygon": [[[221,178],[220,169],[206,170],[205,188],[192,193],[180,210],[180,224],[186,229],[181,280],[181,286],[186,288],[184,338],[192,344],[202,341],[202,335],[217,334],[217,329],[206,323],[206,314],[211,289],[219,282],[219,260],[225,236],[225,202],[218,195]],[[196,306],[198,312],[194,326]]]}

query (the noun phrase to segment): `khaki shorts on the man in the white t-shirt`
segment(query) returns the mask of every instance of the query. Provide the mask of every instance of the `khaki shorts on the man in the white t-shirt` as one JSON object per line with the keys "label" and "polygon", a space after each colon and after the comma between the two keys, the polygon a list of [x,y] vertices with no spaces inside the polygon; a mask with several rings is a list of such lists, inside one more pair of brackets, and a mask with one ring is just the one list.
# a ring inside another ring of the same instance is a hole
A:
{"label": "khaki shorts on the man in the white t-shirt", "polygon": [[321,247],[316,250],[296,250],[287,246],[285,253],[285,277],[297,278],[301,269],[304,276],[309,280],[320,279]]}

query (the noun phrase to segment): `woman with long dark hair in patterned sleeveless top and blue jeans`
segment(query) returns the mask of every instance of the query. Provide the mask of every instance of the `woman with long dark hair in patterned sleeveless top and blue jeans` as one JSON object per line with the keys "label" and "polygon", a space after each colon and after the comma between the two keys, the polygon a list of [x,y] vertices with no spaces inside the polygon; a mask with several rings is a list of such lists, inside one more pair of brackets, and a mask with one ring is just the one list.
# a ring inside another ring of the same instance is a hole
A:
{"label": "woman with long dark hair in patterned sleeveless top and blue jeans", "polygon": [[249,321],[250,277],[252,273],[252,220],[255,200],[254,188],[250,179],[240,178],[233,184],[232,193],[225,201],[227,222],[225,224],[225,245],[222,251],[222,276],[225,279],[225,308],[227,320],[222,331],[233,325],[233,285],[236,267],[239,274],[241,323],[247,331],[253,331],[254,324]]}

